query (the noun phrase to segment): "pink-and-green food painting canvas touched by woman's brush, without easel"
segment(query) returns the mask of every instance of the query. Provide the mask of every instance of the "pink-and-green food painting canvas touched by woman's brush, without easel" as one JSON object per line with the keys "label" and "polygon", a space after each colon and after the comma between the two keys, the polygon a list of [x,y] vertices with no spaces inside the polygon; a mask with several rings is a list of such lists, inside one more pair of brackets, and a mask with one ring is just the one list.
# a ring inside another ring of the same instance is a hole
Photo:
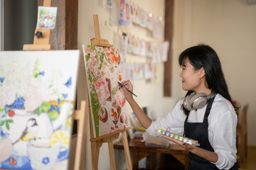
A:
{"label": "pink-and-green food painting canvas touched by woman's brush, without easel", "polygon": [[119,50],[82,45],[94,137],[129,127]]}

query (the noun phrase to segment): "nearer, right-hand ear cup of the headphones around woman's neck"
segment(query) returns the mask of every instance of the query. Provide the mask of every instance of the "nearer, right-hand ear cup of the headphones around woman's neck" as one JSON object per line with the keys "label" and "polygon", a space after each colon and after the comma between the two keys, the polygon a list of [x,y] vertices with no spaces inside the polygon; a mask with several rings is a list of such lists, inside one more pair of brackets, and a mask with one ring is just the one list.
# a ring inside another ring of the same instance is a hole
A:
{"label": "nearer, right-hand ear cup of the headphones around woman's neck", "polygon": [[203,106],[206,106],[206,103],[208,102],[208,96],[203,93],[199,93],[191,97],[190,103],[191,108],[197,109],[197,108],[203,108]]}

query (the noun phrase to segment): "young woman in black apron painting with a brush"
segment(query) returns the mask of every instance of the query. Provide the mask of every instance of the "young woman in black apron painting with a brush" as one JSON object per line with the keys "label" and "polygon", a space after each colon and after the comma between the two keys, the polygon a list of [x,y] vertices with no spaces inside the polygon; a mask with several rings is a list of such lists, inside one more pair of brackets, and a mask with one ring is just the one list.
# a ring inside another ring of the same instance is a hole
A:
{"label": "young woman in black apron painting with a brush", "polygon": [[[164,118],[152,121],[121,86],[126,100],[150,135],[158,136],[157,130],[171,128],[172,133],[198,140],[199,147],[160,135],[188,149],[189,169],[238,169],[235,166],[238,118],[218,55],[208,45],[196,45],[181,52],[178,62],[182,67],[182,89],[188,92]],[[132,91],[129,80],[122,84]]]}

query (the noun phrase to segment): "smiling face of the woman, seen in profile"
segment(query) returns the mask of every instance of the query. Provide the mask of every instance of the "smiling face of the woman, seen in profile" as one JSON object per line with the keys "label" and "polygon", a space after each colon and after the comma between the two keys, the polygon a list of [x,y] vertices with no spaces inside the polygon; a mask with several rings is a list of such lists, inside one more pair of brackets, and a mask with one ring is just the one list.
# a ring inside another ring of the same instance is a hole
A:
{"label": "smiling face of the woman, seen in profile", "polygon": [[182,78],[182,89],[184,91],[201,91],[200,69],[196,70],[188,58],[182,66],[180,77]]}

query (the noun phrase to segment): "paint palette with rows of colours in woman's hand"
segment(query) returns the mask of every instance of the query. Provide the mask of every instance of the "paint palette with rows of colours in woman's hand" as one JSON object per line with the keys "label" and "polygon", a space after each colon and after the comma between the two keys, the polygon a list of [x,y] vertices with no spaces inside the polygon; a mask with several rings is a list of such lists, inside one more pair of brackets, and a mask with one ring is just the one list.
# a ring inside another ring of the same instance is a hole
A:
{"label": "paint palette with rows of colours in woman's hand", "polygon": [[174,133],[171,133],[170,131],[171,131],[171,128],[167,128],[166,130],[161,130],[161,129],[157,130],[157,132],[159,134],[169,136],[171,138],[174,138],[175,140],[180,140],[180,141],[185,142],[189,145],[200,146],[200,144],[198,143],[197,140],[191,140],[188,137],[183,137],[183,136],[180,136],[180,135],[176,135]]}

